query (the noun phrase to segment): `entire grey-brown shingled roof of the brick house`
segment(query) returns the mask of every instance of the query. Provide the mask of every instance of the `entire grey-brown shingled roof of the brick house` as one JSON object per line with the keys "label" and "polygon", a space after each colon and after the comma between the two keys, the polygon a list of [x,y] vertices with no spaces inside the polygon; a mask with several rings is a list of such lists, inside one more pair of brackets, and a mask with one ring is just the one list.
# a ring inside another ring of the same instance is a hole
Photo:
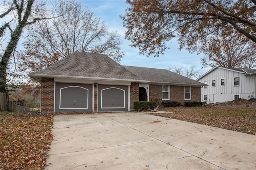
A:
{"label": "entire grey-brown shingled roof of the brick house", "polygon": [[166,69],[122,66],[107,55],[85,52],[74,52],[49,67],[28,75],[39,81],[41,77],[68,77],[142,83],[204,85]]}

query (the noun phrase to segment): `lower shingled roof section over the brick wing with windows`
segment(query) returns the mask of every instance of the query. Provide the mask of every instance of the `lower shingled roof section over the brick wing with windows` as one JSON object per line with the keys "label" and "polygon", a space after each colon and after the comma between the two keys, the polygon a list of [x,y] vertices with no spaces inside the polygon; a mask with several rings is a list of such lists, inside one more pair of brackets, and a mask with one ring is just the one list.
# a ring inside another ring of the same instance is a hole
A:
{"label": "lower shingled roof section over the brick wing with windows", "polygon": [[141,77],[154,83],[174,83],[174,84],[188,84],[188,85],[204,85],[198,81],[176,74],[166,69],[154,69],[146,67],[124,66],[126,69]]}

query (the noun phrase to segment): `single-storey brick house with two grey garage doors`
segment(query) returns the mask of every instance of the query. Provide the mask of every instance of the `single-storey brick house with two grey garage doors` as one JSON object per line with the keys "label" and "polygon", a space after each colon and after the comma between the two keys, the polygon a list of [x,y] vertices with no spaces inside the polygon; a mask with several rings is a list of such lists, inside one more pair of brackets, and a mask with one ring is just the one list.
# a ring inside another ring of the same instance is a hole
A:
{"label": "single-storey brick house with two grey garage doors", "polygon": [[75,52],[28,74],[41,83],[41,111],[130,111],[135,101],[200,101],[203,83],[164,69],[122,66],[107,55]]}

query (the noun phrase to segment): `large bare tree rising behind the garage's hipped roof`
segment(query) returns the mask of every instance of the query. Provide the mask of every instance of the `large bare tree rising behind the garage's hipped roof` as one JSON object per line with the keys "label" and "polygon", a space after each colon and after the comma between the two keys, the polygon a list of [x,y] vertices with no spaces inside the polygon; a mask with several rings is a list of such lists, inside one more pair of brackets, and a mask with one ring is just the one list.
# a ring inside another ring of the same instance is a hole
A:
{"label": "large bare tree rising behind the garage's hipped roof", "polygon": [[104,53],[118,62],[122,59],[124,52],[117,32],[108,32],[104,22],[88,8],[74,0],[63,0],[55,12],[65,14],[28,29],[25,51],[19,59],[23,71],[38,71],[75,51]]}

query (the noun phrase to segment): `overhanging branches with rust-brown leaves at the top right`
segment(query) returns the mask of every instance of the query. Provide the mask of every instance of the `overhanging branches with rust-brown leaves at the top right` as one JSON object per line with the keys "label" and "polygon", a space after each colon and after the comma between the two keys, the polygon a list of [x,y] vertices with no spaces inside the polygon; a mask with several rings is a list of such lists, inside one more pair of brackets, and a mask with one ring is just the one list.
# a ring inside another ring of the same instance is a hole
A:
{"label": "overhanging branches with rust-brown leaves at the top right", "polygon": [[158,57],[176,37],[180,49],[201,51],[210,38],[234,33],[256,43],[255,0],[127,0],[126,38],[141,54]]}

